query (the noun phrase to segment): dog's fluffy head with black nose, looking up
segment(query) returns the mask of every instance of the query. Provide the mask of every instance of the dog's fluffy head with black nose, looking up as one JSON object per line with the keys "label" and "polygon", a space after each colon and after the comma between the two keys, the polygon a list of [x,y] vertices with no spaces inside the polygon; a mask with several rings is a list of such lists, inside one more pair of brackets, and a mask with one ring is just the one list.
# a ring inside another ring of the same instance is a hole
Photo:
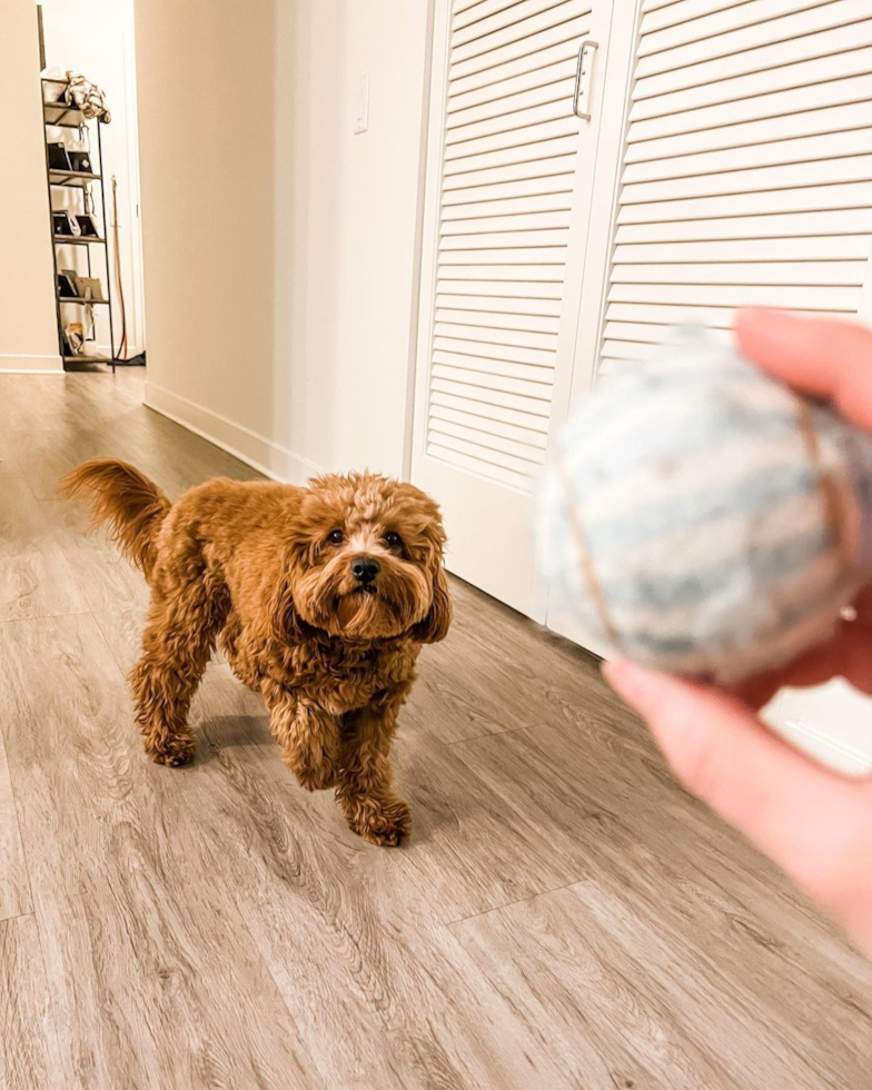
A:
{"label": "dog's fluffy head with black nose, looking up", "polygon": [[439,508],[420,489],[374,474],[317,477],[295,521],[272,622],[349,641],[444,638],[452,620]]}

